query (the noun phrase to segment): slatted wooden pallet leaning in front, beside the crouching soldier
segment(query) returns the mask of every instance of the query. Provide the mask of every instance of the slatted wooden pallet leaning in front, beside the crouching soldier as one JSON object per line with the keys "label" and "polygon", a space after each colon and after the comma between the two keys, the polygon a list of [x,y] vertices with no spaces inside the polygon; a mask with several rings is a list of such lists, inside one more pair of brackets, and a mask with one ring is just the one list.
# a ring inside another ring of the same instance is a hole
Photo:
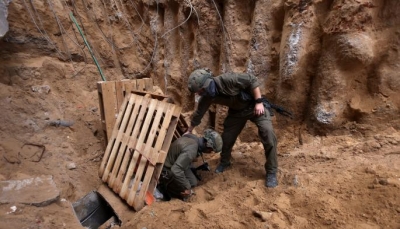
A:
{"label": "slatted wooden pallet leaning in front, beside the crouching soldier", "polygon": [[150,95],[131,94],[121,105],[99,176],[135,210],[154,192],[169,146],[180,135],[176,127],[185,125],[181,110]]}

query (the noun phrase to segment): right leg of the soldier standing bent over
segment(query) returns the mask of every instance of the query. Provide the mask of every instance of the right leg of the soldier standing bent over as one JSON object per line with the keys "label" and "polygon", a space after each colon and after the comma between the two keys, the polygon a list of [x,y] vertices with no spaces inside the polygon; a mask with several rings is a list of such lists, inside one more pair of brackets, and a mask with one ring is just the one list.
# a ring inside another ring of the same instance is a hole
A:
{"label": "right leg of the soldier standing bent over", "polygon": [[264,146],[265,157],[267,159],[264,167],[267,174],[276,173],[278,170],[277,140],[268,110],[264,115],[251,119],[258,127],[258,135]]}

